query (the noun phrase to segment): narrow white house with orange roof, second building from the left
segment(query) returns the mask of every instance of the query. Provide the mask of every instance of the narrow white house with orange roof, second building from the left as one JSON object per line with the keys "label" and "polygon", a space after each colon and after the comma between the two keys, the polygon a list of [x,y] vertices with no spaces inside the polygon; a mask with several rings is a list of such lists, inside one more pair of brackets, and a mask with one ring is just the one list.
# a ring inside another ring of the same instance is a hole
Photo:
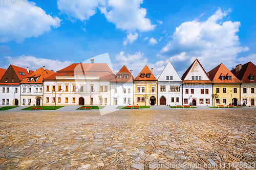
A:
{"label": "narrow white house with orange roof, second building from the left", "polygon": [[[54,71],[48,70],[45,67],[39,68],[20,82],[20,105],[41,106],[43,91],[42,81],[54,73]],[[40,96],[41,99],[36,100],[36,96]]]}

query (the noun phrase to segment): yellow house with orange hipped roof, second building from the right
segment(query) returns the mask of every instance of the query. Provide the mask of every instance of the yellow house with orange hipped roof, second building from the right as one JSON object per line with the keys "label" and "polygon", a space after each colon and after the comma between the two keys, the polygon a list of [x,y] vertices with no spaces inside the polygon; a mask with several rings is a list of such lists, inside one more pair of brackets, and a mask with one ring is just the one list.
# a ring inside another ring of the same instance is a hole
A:
{"label": "yellow house with orange hipped roof, second building from the right", "polygon": [[217,93],[219,98],[216,99],[215,105],[227,106],[232,104],[238,105],[238,101],[241,101],[240,96],[240,81],[231,71],[221,63],[214,69],[208,72],[209,78],[213,81],[213,94]]}

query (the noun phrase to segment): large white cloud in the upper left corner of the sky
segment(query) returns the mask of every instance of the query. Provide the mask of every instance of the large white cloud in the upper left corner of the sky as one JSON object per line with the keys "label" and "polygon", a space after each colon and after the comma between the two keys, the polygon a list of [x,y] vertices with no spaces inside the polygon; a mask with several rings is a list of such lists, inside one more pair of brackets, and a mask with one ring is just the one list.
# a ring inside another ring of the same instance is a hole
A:
{"label": "large white cloud in the upper left corner of the sky", "polygon": [[27,6],[1,6],[0,42],[17,41],[50,31],[60,26],[60,19],[47,15],[44,10],[28,2]]}

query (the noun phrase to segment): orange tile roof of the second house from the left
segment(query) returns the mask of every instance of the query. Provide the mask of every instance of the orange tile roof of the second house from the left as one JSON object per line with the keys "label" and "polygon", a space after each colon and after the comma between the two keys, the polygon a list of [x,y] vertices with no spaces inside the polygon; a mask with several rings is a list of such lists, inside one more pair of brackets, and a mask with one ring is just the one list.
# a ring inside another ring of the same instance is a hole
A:
{"label": "orange tile roof of the second house from the left", "polygon": [[47,78],[47,77],[53,75],[54,73],[55,73],[54,71],[51,71],[51,70],[49,70],[49,69],[44,70],[44,68],[40,67],[39,69],[37,69],[35,72],[33,72],[32,74],[30,74],[30,75],[27,77],[27,78],[32,78],[32,77],[33,77],[33,78],[37,78],[37,77],[39,77],[36,82],[34,82],[34,81],[28,81],[28,79],[24,79],[24,80],[23,80],[22,82],[20,82],[20,83],[42,83],[42,81],[43,81],[45,78]]}

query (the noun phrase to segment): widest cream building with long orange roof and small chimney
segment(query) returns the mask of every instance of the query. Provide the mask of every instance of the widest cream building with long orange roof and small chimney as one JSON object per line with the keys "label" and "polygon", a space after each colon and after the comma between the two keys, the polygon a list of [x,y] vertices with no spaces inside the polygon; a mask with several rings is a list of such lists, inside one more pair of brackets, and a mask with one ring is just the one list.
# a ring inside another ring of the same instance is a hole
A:
{"label": "widest cream building with long orange roof and small chimney", "polygon": [[110,105],[113,78],[106,63],[71,64],[44,80],[44,106]]}

